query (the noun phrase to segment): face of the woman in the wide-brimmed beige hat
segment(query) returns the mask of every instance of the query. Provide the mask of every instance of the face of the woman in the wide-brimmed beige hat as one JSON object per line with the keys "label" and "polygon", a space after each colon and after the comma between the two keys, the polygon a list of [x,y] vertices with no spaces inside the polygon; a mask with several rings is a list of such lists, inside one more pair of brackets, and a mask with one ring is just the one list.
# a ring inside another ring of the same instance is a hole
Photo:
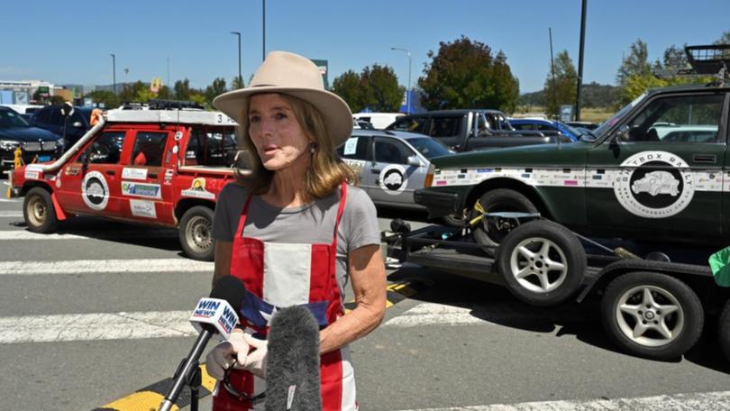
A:
{"label": "face of the woman in the wide-brimmed beige hat", "polygon": [[251,96],[249,135],[266,169],[287,169],[307,159],[310,142],[291,106],[278,94]]}

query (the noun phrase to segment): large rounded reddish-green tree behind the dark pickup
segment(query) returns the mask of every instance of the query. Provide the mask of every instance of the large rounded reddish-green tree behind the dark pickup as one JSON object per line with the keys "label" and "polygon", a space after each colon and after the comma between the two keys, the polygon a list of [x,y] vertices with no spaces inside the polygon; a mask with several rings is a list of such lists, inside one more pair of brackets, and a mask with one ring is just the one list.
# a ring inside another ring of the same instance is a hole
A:
{"label": "large rounded reddish-green tree behind the dark pickup", "polygon": [[[502,54],[501,52],[499,54]],[[423,91],[421,105],[439,108],[514,109],[519,84],[506,64],[504,54],[497,59],[488,45],[468,37],[440,42],[438,52],[430,50],[432,59],[418,78]]]}

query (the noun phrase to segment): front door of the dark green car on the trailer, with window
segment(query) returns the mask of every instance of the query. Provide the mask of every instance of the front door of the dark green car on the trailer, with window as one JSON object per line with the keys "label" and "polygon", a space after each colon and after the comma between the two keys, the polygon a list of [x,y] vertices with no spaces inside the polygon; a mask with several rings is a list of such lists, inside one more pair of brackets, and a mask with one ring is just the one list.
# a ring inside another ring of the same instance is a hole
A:
{"label": "front door of the dark green car on the trailer, with window", "polygon": [[726,96],[650,97],[589,151],[588,221],[641,237],[721,231]]}

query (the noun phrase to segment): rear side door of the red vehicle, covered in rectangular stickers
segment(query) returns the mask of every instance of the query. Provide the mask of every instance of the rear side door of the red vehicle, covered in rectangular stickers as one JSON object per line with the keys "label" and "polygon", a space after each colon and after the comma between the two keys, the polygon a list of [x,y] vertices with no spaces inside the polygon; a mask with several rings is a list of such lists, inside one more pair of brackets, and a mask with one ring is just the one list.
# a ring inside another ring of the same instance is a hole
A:
{"label": "rear side door of the red vehicle, covered in rectangular stickers", "polygon": [[133,133],[131,155],[122,172],[125,215],[135,220],[166,220],[169,215],[163,213],[169,207],[163,206],[165,196],[162,186],[169,165],[167,145],[170,131],[137,129]]}

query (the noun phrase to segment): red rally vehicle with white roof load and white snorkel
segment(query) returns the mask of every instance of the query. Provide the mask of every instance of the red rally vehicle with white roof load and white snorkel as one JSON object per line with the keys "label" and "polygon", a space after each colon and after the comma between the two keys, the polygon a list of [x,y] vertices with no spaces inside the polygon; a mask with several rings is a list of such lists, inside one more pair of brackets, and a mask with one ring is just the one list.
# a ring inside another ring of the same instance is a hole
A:
{"label": "red rally vehicle with white roof load and white snorkel", "polygon": [[[73,215],[177,227],[183,251],[213,260],[215,200],[234,178],[233,122],[202,110],[111,110],[59,160],[9,172],[34,233]],[[143,230],[144,228],[141,228]]]}

